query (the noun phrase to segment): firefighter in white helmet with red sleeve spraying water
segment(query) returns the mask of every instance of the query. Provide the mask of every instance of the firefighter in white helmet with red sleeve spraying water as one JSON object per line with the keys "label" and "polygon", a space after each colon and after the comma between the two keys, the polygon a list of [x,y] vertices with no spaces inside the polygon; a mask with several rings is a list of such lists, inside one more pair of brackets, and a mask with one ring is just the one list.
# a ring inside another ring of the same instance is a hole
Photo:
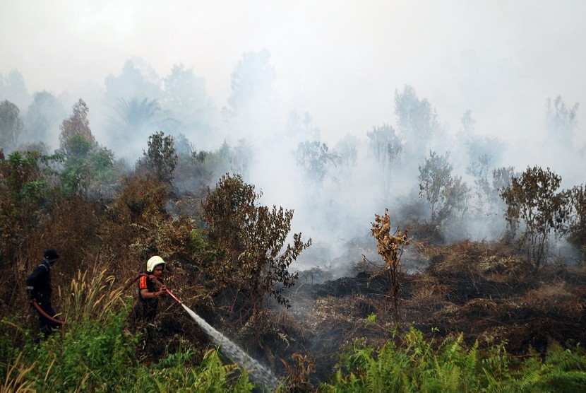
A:
{"label": "firefighter in white helmet with red sleeve spraying water", "polygon": [[138,279],[138,301],[134,306],[134,322],[153,322],[157,315],[160,296],[167,293],[167,286],[163,282],[165,261],[158,256],[147,262],[147,274]]}

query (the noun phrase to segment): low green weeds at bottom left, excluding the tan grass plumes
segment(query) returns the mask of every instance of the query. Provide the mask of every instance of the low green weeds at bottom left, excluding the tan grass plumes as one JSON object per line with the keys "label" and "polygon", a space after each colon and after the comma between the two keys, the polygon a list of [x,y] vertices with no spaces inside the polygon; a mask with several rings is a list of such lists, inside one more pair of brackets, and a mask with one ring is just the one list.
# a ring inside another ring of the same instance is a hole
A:
{"label": "low green weeds at bottom left, excluding the tan grass plumes", "polygon": [[[225,365],[217,349],[194,365],[189,349],[167,353],[158,363],[136,363],[138,336],[124,332],[127,314],[109,324],[85,321],[61,336],[21,351],[3,352],[0,376],[6,392],[253,392],[246,370]],[[6,334],[0,343],[11,342]],[[20,389],[20,390],[19,390]]]}

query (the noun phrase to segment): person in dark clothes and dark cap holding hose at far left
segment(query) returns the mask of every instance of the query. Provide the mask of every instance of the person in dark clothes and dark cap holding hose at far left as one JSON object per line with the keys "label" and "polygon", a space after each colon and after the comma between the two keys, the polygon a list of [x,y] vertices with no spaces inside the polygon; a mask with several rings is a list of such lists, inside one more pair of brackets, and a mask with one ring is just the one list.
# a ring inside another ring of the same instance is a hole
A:
{"label": "person in dark clothes and dark cap holding hose at far left", "polygon": [[[55,250],[47,250],[43,254],[43,260],[37,268],[32,271],[32,274],[26,279],[26,291],[30,300],[35,300],[45,314],[53,319],[56,312],[51,305],[51,268],[55,261],[59,259],[59,254]],[[31,307],[35,308],[34,305]],[[52,334],[59,324],[54,320],[48,319],[42,315],[39,310],[35,308],[39,316],[39,329],[42,334],[48,336]]]}

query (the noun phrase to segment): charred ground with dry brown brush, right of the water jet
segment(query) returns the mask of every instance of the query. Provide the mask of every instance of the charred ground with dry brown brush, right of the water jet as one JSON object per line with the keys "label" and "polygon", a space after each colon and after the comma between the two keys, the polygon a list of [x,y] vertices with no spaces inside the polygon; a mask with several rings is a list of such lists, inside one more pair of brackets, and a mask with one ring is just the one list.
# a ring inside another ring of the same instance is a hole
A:
{"label": "charred ground with dry brown brush, right of the water jet", "polygon": [[439,341],[461,332],[467,346],[478,341],[481,349],[504,341],[515,356],[530,348],[544,353],[552,342],[586,344],[584,266],[536,270],[511,250],[474,242],[433,247],[429,260],[426,269],[402,276],[396,313],[388,281],[376,271],[291,292],[290,312],[308,331],[302,346],[313,353],[320,378],[331,373],[340,347],[356,337],[393,339],[397,324]]}

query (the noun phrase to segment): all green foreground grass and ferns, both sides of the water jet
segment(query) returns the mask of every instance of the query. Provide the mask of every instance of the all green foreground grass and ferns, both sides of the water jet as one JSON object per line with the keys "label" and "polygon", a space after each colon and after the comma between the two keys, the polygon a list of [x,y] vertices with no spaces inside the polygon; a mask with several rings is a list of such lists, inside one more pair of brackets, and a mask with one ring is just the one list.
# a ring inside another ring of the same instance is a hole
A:
{"label": "all green foreground grass and ferns, both sides of the water jet", "polygon": [[[79,273],[62,293],[66,324],[36,343],[20,315],[0,331],[0,393],[4,392],[252,392],[246,371],[222,363],[211,349],[196,363],[189,343],[158,362],[136,359],[139,334],[126,326],[131,298],[112,276]],[[383,346],[354,341],[321,392],[583,392],[586,353],[552,345],[545,358],[510,356],[504,344],[479,351],[462,336],[436,343],[417,329]],[[309,388],[309,386],[308,386]],[[286,382],[277,389],[295,391]],[[258,390],[254,390],[258,391]]]}

